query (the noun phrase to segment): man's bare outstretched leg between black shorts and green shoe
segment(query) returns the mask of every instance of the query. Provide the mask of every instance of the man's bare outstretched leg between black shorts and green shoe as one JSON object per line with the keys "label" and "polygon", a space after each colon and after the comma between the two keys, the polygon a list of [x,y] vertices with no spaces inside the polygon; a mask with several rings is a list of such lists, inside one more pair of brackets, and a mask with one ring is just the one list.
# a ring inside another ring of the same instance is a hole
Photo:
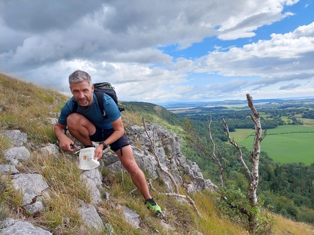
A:
{"label": "man's bare outstretched leg between black shorts and green shoe", "polygon": [[151,199],[150,191],[148,189],[148,184],[145,179],[145,175],[142,170],[138,167],[136,163],[131,145],[126,145],[122,148],[123,156],[121,156],[120,149],[117,150],[116,154],[119,157],[122,166],[131,175],[133,183],[136,185],[141,194],[143,194],[145,200]]}

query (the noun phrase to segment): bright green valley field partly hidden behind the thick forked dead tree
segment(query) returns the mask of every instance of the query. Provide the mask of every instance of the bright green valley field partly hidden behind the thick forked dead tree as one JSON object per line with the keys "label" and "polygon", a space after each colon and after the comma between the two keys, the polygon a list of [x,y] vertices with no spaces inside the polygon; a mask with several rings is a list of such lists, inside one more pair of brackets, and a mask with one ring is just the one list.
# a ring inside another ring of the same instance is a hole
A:
{"label": "bright green valley field partly hidden behind the thick forked dead tree", "polygon": [[[244,131],[246,130],[246,131]],[[251,133],[254,130],[250,130]],[[237,130],[230,133],[239,145],[252,149],[254,135],[243,138],[249,129]],[[267,131],[266,138],[261,142],[261,151],[277,163],[306,163],[314,162],[314,127],[313,126],[278,126]],[[247,135],[248,136],[248,135]]]}

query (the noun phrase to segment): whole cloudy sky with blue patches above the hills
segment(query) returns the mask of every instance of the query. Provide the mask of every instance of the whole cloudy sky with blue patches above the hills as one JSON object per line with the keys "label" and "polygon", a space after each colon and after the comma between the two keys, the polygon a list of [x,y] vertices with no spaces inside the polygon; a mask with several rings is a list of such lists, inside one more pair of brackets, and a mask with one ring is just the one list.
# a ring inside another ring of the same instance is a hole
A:
{"label": "whole cloudy sky with blue patches above the hills", "polygon": [[0,72],[119,100],[314,97],[314,0],[0,0]]}

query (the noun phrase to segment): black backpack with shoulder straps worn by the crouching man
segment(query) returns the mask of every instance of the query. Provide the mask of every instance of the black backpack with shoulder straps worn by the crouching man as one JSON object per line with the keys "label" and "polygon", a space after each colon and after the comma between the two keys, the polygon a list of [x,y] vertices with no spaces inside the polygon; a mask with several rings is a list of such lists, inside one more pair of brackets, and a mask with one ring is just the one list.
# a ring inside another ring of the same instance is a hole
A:
{"label": "black backpack with shoulder straps worn by the crouching man", "polygon": [[[115,92],[115,88],[111,86],[110,83],[108,82],[93,83],[93,86],[94,86],[93,93],[96,95],[96,98],[98,101],[98,107],[105,119],[107,119],[108,116],[107,114],[105,114],[105,110],[103,109],[103,94],[104,93],[109,95],[112,98],[112,100],[115,101],[120,112],[124,111],[124,108],[119,107],[117,93]],[[77,102],[74,102],[73,112],[77,112],[78,107],[79,105],[77,104]]]}

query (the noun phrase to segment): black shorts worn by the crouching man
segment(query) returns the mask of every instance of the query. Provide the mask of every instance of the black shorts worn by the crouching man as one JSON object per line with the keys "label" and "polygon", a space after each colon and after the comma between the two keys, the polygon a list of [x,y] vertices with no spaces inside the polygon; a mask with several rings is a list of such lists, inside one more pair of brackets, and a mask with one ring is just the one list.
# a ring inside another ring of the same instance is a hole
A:
{"label": "black shorts worn by the crouching man", "polygon": [[[93,135],[90,135],[89,137],[91,138],[91,141],[102,142],[103,140],[106,140],[107,137],[112,135],[113,132],[114,132],[113,129],[100,129],[96,127],[96,133]],[[110,144],[110,149],[112,149],[114,152],[117,152],[117,150],[121,149],[122,147],[126,145],[130,145],[130,142],[129,142],[129,138],[124,133],[122,137],[120,137],[118,140]]]}

